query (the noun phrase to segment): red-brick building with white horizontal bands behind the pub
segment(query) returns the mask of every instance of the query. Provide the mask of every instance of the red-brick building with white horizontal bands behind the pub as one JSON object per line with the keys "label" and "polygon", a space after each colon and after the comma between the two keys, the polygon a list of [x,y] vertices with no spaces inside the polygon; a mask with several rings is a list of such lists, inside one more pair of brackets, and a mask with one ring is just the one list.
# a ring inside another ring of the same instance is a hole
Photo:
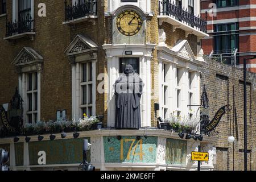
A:
{"label": "red-brick building with white horizontal bands behind the pub", "polygon": [[[202,40],[205,54],[222,63],[243,67],[243,59],[255,55],[255,1],[201,1],[201,14],[208,11],[208,38]],[[247,68],[256,72],[256,60]]]}

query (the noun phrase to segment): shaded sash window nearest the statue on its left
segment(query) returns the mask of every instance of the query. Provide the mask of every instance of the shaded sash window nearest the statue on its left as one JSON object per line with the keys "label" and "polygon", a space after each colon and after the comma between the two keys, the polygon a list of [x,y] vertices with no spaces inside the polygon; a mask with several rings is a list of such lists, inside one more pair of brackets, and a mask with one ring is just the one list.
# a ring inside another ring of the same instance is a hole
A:
{"label": "shaded sash window nearest the statue on its left", "polygon": [[93,114],[93,76],[92,62],[81,64],[81,111],[89,117]]}

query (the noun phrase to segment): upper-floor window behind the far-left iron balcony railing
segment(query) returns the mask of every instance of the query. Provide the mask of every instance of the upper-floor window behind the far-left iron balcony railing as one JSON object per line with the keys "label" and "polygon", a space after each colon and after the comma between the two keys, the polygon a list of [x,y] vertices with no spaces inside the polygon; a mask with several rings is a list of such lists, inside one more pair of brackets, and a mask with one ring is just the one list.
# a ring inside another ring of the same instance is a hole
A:
{"label": "upper-floor window behind the far-left iron balcony railing", "polygon": [[31,16],[31,0],[19,0],[18,11],[19,22],[29,19]]}

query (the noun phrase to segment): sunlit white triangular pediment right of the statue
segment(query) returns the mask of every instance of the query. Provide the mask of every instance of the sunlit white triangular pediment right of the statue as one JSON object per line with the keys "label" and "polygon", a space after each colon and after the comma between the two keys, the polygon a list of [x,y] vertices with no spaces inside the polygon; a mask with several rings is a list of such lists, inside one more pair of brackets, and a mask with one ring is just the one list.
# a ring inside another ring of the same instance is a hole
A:
{"label": "sunlit white triangular pediment right of the statue", "polygon": [[179,40],[175,46],[172,47],[171,51],[174,51],[178,56],[192,60],[195,59],[195,55],[189,46],[188,40]]}

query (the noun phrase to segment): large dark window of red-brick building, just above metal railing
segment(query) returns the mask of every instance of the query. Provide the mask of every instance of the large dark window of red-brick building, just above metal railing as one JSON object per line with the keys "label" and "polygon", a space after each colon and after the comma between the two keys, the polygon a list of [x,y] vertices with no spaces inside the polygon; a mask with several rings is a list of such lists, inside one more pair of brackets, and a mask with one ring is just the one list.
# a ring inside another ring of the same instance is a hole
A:
{"label": "large dark window of red-brick building, just above metal railing", "polygon": [[230,53],[239,48],[238,23],[214,25],[214,51]]}

